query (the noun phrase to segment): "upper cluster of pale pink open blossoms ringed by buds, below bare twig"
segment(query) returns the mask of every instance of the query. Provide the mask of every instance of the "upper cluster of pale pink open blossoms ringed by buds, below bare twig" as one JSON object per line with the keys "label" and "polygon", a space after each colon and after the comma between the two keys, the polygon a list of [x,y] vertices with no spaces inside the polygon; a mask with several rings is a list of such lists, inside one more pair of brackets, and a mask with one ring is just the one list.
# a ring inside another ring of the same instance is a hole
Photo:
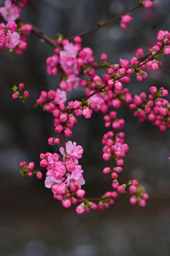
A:
{"label": "upper cluster of pale pink open blossoms ringed by buds, below bare twig", "polygon": [[[74,43],[68,40],[57,40],[62,46],[62,50],[55,48],[55,55],[47,58],[47,74],[56,75],[59,66],[64,71],[63,79],[60,82],[62,90],[71,92],[79,86],[79,78],[77,75],[81,72],[84,65],[94,61],[93,51],[91,48],[81,49],[81,38],[76,36]],[[88,71],[84,71],[88,73]]]}

